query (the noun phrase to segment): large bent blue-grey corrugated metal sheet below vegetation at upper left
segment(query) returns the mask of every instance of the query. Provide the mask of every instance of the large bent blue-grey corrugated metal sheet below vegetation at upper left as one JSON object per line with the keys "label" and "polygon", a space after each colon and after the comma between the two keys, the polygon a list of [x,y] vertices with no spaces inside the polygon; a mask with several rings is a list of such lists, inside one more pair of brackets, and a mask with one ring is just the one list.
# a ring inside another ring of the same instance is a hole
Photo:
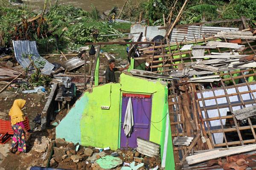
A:
{"label": "large bent blue-grey corrugated metal sheet below vegetation at upper left", "polygon": [[15,58],[23,68],[27,68],[30,64],[30,60],[27,57],[28,55],[32,55],[31,59],[38,67],[42,65],[40,63],[45,62],[44,68],[41,69],[43,73],[49,72],[49,70],[52,70],[54,68],[53,64],[51,64],[39,55],[35,41],[12,41],[12,44],[14,48]]}

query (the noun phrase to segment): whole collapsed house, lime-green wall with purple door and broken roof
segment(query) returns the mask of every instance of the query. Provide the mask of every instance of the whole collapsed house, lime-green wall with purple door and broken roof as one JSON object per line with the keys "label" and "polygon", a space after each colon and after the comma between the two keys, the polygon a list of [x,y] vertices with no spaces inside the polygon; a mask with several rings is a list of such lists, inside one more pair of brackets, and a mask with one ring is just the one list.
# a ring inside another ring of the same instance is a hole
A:
{"label": "whole collapsed house, lime-green wall with purple door and broken roof", "polygon": [[[170,28],[166,31],[167,38],[167,33],[172,32]],[[188,170],[200,166],[241,167],[237,154],[253,162],[249,157],[256,150],[255,36],[235,28],[223,30],[211,35],[201,31],[193,35],[194,39],[184,36],[166,44],[134,42],[131,49],[140,51],[140,57],[129,51],[130,75],[122,74],[116,84],[97,86],[99,63],[95,62],[90,87],[94,77],[96,87],[85,92],[61,121],[56,128],[57,137],[114,149],[136,148],[138,143],[134,138],[142,138],[160,144],[162,167],[168,170],[180,166]],[[140,43],[151,46],[137,49]],[[140,122],[135,116],[135,137],[131,138],[124,135],[122,128],[130,97],[136,105],[135,115],[145,116],[146,121]],[[145,132],[136,132],[136,128]],[[230,163],[227,156],[233,156],[235,161]],[[218,159],[223,157],[226,159]]]}

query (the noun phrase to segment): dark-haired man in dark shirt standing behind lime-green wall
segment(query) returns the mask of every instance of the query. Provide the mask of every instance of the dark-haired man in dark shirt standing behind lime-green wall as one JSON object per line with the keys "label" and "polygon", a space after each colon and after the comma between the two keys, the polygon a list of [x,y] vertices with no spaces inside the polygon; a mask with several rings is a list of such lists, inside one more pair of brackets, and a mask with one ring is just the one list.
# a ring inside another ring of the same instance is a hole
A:
{"label": "dark-haired man in dark shirt standing behind lime-green wall", "polygon": [[129,68],[129,64],[125,68],[116,68],[114,59],[110,59],[108,64],[109,66],[106,69],[106,83],[116,82],[115,71],[123,71]]}

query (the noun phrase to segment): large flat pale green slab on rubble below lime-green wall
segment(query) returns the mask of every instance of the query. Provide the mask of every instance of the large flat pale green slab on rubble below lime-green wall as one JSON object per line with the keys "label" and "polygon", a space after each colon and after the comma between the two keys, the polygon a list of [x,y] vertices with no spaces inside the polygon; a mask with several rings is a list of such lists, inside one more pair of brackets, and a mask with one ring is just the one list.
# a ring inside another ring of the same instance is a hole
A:
{"label": "large flat pale green slab on rubble below lime-green wall", "polygon": [[96,163],[103,169],[111,169],[122,164],[122,159],[107,155],[98,159]]}

